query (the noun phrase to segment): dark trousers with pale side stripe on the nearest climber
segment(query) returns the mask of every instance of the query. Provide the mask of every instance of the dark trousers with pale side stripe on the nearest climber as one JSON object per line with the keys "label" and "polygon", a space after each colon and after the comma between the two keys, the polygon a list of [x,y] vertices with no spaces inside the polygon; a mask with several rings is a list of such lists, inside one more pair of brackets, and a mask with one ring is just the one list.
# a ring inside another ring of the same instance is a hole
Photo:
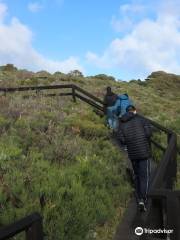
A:
{"label": "dark trousers with pale side stripe on the nearest climber", "polygon": [[144,200],[147,201],[147,193],[149,190],[150,183],[150,161],[151,159],[144,160],[131,160],[133,171],[134,171],[134,181],[136,189],[137,201]]}

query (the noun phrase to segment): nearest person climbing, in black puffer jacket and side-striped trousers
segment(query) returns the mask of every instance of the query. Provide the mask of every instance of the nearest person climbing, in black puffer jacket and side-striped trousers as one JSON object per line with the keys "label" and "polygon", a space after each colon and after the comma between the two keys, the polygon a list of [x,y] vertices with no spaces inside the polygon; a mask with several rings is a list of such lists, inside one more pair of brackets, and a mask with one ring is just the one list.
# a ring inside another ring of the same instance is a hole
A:
{"label": "nearest person climbing, in black puffer jacket and side-striped trousers", "polygon": [[127,146],[135,175],[138,206],[141,211],[145,211],[150,179],[152,131],[149,122],[136,114],[134,106],[128,106],[126,111],[127,113],[120,118],[117,135],[120,142]]}

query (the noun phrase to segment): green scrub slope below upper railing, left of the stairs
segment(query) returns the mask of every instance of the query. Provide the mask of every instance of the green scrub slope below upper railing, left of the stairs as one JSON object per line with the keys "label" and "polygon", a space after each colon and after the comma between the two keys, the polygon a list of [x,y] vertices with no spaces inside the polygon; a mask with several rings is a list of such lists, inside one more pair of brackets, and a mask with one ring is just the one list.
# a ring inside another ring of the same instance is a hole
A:
{"label": "green scrub slope below upper railing, left of the stairs", "polygon": [[0,138],[1,225],[39,211],[48,239],[91,239],[126,206],[125,163],[91,110],[67,102],[62,115],[56,100],[34,102],[18,97],[2,116],[10,126]]}

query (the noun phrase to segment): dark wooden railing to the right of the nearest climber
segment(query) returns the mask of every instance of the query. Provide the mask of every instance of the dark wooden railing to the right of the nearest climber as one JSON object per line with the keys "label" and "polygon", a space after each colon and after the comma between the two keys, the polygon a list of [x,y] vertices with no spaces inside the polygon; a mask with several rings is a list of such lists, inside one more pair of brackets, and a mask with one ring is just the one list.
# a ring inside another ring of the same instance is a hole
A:
{"label": "dark wooden railing to the right of the nearest climber", "polygon": [[[180,191],[173,190],[177,173],[177,136],[171,130],[151,121],[151,124],[167,136],[166,149],[157,167],[156,174],[150,186],[151,199],[142,226],[151,229],[173,230],[171,234],[143,234],[139,239],[180,239]],[[169,238],[168,238],[169,237]]]}

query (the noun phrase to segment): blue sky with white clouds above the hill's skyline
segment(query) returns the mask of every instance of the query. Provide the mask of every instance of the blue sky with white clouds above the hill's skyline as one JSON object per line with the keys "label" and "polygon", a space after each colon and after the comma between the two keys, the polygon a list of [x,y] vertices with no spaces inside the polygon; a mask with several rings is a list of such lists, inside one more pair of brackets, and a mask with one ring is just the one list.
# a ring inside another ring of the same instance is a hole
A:
{"label": "blue sky with white clouds above the hill's skyline", "polygon": [[179,0],[0,0],[0,65],[120,80],[180,74]]}

